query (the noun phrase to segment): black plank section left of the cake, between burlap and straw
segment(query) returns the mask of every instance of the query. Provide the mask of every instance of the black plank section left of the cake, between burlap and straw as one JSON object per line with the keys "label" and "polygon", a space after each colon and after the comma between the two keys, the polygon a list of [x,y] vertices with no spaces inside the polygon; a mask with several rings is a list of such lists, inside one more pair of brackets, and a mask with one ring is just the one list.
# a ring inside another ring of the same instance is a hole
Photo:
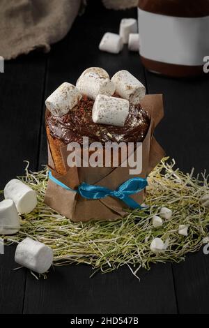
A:
{"label": "black plank section left of the cake, between burlap and straw", "polygon": [[41,54],[21,57],[6,62],[0,75],[1,188],[24,173],[23,161],[37,169],[45,61]]}

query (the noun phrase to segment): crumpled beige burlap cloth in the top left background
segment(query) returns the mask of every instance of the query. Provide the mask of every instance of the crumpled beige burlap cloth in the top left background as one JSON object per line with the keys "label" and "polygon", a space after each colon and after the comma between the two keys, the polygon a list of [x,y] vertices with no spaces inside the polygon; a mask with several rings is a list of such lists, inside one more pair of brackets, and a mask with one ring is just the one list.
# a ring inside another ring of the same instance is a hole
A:
{"label": "crumpled beige burlap cloth in the top left background", "polygon": [[[0,56],[13,59],[20,54],[61,40],[70,30],[85,0],[1,0]],[[103,0],[112,9],[128,8],[136,0]]]}

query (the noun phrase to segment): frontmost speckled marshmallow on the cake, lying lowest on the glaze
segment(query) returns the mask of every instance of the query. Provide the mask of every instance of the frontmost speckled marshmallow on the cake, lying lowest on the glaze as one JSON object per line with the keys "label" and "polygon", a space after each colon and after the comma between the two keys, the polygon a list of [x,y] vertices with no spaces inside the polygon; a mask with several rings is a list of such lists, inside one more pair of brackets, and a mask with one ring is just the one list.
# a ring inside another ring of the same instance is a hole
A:
{"label": "frontmost speckled marshmallow on the cake, lying lowest on the glaze", "polygon": [[125,99],[99,94],[92,109],[94,123],[124,126],[129,113],[129,102]]}

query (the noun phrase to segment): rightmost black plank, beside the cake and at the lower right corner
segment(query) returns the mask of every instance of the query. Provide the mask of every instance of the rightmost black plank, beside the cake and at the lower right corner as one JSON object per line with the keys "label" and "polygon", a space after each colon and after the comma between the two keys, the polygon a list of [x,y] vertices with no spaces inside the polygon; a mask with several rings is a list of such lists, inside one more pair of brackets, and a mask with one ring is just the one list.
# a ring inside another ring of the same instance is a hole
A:
{"label": "rightmost black plank, beside the cake and at the lower right corner", "polygon": [[[165,117],[155,135],[184,172],[208,170],[208,79],[174,80],[146,72],[148,91],[164,94]],[[208,313],[209,257],[202,251],[173,265],[180,313]]]}

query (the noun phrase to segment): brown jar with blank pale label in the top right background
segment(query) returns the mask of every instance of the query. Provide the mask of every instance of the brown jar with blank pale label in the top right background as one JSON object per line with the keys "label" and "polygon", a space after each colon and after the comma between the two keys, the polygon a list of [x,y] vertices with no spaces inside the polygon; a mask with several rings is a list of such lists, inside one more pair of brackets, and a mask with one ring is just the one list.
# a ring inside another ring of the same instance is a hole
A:
{"label": "brown jar with blank pale label in the top right background", "polygon": [[209,56],[209,0],[139,0],[144,66],[171,77],[203,74]]}

